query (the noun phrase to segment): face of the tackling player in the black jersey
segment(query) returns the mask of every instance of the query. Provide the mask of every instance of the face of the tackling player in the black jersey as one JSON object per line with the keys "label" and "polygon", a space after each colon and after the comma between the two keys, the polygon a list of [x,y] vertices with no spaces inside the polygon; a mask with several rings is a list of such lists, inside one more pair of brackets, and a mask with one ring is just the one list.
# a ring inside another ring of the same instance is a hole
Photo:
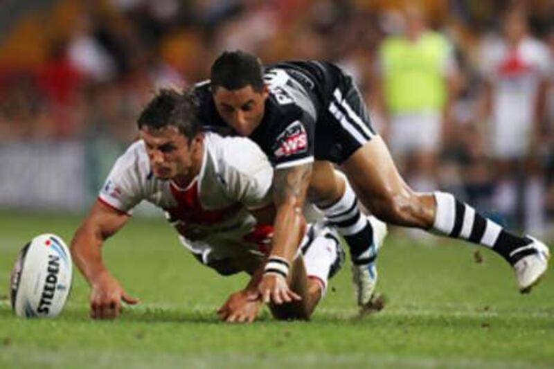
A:
{"label": "face of the tackling player in the black jersey", "polygon": [[241,136],[250,136],[260,125],[267,96],[267,87],[262,91],[255,91],[250,84],[242,89],[217,87],[213,91],[217,112]]}

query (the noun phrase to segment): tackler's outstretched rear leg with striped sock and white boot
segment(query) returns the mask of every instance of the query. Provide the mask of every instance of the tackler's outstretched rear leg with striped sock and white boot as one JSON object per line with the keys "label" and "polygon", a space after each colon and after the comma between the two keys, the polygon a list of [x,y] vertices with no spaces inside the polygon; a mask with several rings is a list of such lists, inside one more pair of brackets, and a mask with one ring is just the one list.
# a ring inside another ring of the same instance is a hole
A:
{"label": "tackler's outstretched rear leg with striped sock and white boot", "polygon": [[489,247],[515,267],[521,292],[528,292],[546,271],[549,252],[542,242],[506,231],[449,193],[413,192],[378,136],[352,154],[343,167],[361,201],[384,222],[432,229]]}

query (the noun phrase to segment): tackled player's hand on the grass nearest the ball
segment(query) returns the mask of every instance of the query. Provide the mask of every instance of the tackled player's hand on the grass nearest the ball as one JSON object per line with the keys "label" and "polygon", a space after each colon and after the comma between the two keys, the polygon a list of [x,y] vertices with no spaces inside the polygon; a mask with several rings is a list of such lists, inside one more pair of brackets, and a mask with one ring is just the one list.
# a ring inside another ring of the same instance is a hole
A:
{"label": "tackled player's hand on the grass nearest the ball", "polygon": [[117,318],[121,312],[121,300],[127,304],[139,303],[139,299],[125,292],[116,278],[104,274],[92,284],[90,314],[93,319]]}

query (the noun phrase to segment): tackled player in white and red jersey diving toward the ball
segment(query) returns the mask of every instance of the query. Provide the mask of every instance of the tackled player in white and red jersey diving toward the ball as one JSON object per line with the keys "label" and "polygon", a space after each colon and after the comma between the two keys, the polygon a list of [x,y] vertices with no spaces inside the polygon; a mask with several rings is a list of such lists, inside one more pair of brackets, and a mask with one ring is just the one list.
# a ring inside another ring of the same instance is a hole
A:
{"label": "tackled player in white and red jersey diving toward the ball", "polygon": [[273,258],[274,268],[265,267],[274,217],[271,165],[247,138],[202,132],[196,109],[190,93],[166,89],[154,97],[138,120],[141,139],[116,161],[75,233],[71,252],[91,286],[91,317],[115,318],[121,300],[138,302],[111,276],[101,248],[145,200],[166,210],[179,240],[199,261],[222,275],[251,274],[247,287],[231,294],[217,312],[222,320],[256,318],[264,272],[283,276],[294,291],[270,305],[274,316],[309,318],[328,276],[340,266],[337,235],[323,224],[305,225],[294,263],[287,267]]}

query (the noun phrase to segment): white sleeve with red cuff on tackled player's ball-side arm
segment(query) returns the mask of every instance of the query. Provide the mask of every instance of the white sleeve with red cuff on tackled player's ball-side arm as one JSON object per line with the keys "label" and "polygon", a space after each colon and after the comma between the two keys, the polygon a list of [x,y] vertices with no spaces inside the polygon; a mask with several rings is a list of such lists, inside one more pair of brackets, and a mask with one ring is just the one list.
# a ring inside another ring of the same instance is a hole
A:
{"label": "white sleeve with red cuff on tackled player's ball-side arm", "polygon": [[130,149],[117,159],[98,195],[103,204],[130,215],[132,208],[143,200],[138,161]]}

